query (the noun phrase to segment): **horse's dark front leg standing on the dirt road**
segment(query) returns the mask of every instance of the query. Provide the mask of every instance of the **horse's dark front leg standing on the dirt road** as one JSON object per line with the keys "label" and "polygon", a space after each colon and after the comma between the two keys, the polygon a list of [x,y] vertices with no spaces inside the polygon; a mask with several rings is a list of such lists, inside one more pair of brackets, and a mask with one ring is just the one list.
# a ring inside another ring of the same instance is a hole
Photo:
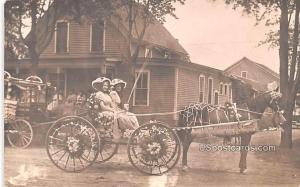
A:
{"label": "horse's dark front leg standing on the dirt road", "polygon": [[251,141],[252,134],[245,134],[241,136],[241,150],[240,150],[240,173],[244,173],[244,171],[247,169],[247,154],[248,154],[248,148],[250,141]]}

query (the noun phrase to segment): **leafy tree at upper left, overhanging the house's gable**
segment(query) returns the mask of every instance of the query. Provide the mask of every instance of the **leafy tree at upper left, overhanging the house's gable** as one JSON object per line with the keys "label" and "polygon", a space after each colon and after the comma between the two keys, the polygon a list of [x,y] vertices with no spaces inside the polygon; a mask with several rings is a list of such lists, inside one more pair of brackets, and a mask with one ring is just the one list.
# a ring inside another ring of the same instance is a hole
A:
{"label": "leafy tree at upper left, overhanging the house's gable", "polygon": [[[69,15],[80,22],[87,14],[103,17],[113,11],[113,6],[106,0],[8,0],[4,9],[5,56],[18,59],[27,55],[31,74],[36,74],[39,57],[51,41],[59,18]],[[25,28],[29,29],[26,37]]]}

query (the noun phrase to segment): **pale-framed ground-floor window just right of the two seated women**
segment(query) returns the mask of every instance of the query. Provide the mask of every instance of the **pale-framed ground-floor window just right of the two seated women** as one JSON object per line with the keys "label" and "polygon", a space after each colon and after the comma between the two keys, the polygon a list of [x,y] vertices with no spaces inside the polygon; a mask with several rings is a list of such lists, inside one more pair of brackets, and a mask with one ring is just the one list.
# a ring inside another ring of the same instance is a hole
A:
{"label": "pale-framed ground-floor window just right of the two seated women", "polygon": [[[136,72],[135,77],[138,77]],[[149,83],[150,83],[150,72],[145,71],[140,73],[140,77],[137,80],[137,84],[134,90],[133,105],[149,105]]]}

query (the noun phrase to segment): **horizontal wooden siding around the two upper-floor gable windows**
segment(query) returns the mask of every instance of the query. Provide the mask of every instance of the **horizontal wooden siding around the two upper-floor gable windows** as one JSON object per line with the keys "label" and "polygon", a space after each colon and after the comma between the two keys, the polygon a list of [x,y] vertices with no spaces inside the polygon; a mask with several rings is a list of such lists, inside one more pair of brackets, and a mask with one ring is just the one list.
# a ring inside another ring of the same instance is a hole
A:
{"label": "horizontal wooden siding around the two upper-floor gable windows", "polygon": [[104,51],[90,52],[90,23],[69,22],[69,52],[55,53],[55,34],[53,34],[41,58],[87,58],[87,57],[120,57],[125,53],[126,40],[123,35],[110,23],[105,23]]}

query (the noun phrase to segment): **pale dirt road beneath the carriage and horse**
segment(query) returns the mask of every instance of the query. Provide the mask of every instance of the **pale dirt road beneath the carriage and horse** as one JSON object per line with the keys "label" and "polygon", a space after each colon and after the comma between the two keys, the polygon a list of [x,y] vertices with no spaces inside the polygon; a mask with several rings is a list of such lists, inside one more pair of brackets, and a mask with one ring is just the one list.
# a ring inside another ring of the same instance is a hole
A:
{"label": "pale dirt road beneath the carriage and horse", "polygon": [[[261,132],[252,145],[279,145],[280,132]],[[130,165],[126,147],[104,164],[94,164],[82,173],[66,173],[56,168],[42,147],[5,148],[4,184],[25,186],[103,186],[103,187],[172,187],[172,186],[300,186],[300,130],[294,131],[293,150],[250,152],[248,171],[240,174],[239,152],[199,151],[193,143],[187,172],[181,163],[162,176],[148,176]]]}

